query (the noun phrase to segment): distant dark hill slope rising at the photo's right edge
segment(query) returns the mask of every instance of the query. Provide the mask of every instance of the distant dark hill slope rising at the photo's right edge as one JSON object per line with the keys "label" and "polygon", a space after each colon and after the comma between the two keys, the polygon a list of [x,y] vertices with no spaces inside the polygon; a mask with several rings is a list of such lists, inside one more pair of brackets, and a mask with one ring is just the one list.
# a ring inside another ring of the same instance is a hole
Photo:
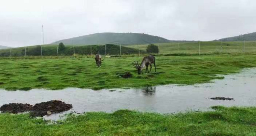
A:
{"label": "distant dark hill slope rising at the photo's right edge", "polygon": [[218,41],[243,41],[243,40],[245,41],[256,40],[256,32],[243,34],[239,36],[228,37],[228,38],[222,38],[222,39],[219,39]]}

